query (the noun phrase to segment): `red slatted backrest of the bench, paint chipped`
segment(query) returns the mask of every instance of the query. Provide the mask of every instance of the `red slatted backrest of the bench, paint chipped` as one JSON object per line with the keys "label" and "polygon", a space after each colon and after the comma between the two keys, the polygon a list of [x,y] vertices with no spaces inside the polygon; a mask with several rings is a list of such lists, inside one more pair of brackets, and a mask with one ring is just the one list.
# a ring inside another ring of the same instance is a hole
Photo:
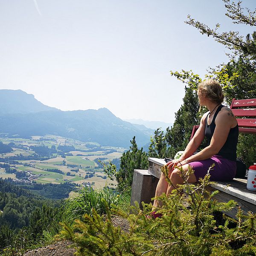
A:
{"label": "red slatted backrest of the bench, paint chipped", "polygon": [[[237,117],[240,133],[256,134],[256,99],[233,99],[230,109]],[[199,125],[193,126],[190,140],[198,128]]]}

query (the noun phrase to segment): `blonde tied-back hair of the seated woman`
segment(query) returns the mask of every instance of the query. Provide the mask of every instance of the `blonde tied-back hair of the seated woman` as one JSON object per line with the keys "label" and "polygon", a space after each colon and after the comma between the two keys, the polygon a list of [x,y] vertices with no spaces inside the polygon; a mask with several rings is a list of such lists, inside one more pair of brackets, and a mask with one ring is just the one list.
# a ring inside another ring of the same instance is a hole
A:
{"label": "blonde tied-back hair of the seated woman", "polygon": [[[216,104],[221,104],[224,100],[224,95],[222,92],[221,85],[218,81],[213,79],[207,79],[198,84],[198,92],[201,92],[207,99],[215,102]],[[200,109],[201,110],[201,103]]]}

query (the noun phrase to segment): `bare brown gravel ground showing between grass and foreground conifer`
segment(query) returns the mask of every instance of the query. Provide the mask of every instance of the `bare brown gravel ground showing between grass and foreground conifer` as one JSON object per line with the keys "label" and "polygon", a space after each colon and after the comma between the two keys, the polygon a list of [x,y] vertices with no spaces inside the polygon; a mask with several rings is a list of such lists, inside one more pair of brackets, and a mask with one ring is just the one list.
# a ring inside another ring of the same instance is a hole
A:
{"label": "bare brown gravel ground showing between grass and foreground conifer", "polygon": [[[113,225],[119,226],[125,232],[129,230],[129,223],[125,218],[115,216],[112,218]],[[74,256],[76,249],[72,247],[71,241],[56,241],[54,244],[29,250],[23,256]]]}

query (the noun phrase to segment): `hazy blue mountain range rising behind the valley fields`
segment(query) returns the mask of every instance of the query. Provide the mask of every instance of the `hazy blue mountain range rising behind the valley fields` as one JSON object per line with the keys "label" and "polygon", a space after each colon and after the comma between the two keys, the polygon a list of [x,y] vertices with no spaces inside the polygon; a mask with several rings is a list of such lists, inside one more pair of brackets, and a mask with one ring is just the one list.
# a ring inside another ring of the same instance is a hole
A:
{"label": "hazy blue mountain range rising behind the valley fields", "polygon": [[139,146],[148,144],[154,130],[123,121],[107,108],[61,111],[22,90],[0,90],[0,133],[25,138],[55,134],[103,146],[128,147],[133,136]]}

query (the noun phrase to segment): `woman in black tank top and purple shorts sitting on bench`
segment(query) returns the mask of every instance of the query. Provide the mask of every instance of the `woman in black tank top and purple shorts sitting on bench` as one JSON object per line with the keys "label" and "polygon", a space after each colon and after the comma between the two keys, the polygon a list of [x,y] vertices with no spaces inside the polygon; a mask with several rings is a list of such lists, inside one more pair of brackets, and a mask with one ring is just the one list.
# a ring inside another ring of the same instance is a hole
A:
{"label": "woman in black tank top and purple shorts sitting on bench", "polygon": [[[206,106],[209,110],[201,118],[200,126],[195,136],[186,146],[184,153],[177,160],[169,161],[166,167],[169,169],[169,177],[172,181],[170,185],[162,173],[157,184],[155,196],[162,193],[169,195],[178,184],[183,184],[180,177],[182,166],[184,172],[188,171],[188,165],[192,167],[194,173],[189,178],[189,183],[195,183],[199,178],[204,178],[209,167],[210,180],[229,181],[236,175],[236,146],[238,141],[238,124],[232,111],[221,105],[224,96],[218,81],[208,79],[198,85],[198,99],[201,106]],[[208,140],[208,146],[197,154],[193,154],[204,140]],[[155,200],[153,210],[161,207],[161,202]],[[157,213],[152,212],[154,217]]]}

